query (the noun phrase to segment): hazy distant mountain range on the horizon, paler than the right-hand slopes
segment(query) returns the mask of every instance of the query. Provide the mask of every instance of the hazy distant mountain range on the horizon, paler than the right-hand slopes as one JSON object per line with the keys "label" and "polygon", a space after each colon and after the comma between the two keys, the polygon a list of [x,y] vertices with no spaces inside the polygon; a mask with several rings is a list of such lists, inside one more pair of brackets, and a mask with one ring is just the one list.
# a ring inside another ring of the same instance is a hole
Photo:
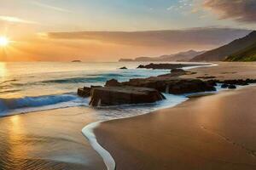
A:
{"label": "hazy distant mountain range on the horizon, paler than the right-hand slopes", "polygon": [[119,59],[119,61],[189,61],[196,55],[203,53],[205,51],[189,50],[177,54],[161,55],[159,57],[138,57],[136,59]]}

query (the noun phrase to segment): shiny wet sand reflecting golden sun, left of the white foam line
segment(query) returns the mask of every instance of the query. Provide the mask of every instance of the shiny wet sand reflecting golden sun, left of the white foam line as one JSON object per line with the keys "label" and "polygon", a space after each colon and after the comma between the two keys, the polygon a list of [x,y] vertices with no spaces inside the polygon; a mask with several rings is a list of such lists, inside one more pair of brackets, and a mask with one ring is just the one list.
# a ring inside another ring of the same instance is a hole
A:
{"label": "shiny wet sand reflecting golden sun, left of the white foam line", "polygon": [[73,107],[0,118],[0,169],[106,169],[81,129],[95,122],[90,108]]}

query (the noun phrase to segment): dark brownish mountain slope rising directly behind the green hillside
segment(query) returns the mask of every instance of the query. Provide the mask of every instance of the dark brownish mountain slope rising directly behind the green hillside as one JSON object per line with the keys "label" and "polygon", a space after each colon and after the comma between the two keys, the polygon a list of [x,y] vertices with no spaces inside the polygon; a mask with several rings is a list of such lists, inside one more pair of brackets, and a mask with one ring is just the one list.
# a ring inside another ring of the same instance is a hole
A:
{"label": "dark brownish mountain slope rising directly behind the green hillside", "polygon": [[250,47],[256,42],[256,31],[252,31],[246,37],[234,40],[222,47],[212,49],[204,54],[195,56],[190,61],[221,61],[226,57],[239,53],[241,50]]}

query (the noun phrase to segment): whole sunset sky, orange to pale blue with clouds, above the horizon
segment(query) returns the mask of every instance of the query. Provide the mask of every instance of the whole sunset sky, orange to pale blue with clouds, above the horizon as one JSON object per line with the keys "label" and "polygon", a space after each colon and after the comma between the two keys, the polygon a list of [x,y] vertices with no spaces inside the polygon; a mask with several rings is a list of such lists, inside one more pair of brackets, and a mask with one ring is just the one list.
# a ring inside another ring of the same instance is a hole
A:
{"label": "whole sunset sky, orange to pale blue with clouds, above the horizon", "polygon": [[[0,0],[3,61],[113,61],[207,50],[256,28],[255,0]],[[0,47],[1,48],[1,47]]]}

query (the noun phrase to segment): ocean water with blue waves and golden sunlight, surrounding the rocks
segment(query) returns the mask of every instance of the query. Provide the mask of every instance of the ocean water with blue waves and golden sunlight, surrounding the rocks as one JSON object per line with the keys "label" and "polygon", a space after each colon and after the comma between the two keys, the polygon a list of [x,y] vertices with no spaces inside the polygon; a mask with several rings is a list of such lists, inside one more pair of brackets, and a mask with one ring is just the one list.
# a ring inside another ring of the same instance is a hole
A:
{"label": "ocean water with blue waves and golden sunlight, surrounding the rocks", "polygon": [[[79,98],[77,88],[104,85],[112,78],[125,82],[131,78],[154,77],[170,72],[136,69],[140,64],[142,63],[0,63],[0,116],[79,105],[89,107],[89,99]],[[126,66],[128,70],[120,70],[119,67],[122,66]],[[181,96],[166,95],[167,100],[158,104],[110,107],[99,117],[101,120],[123,117],[119,111],[125,109],[125,116],[132,116],[130,112],[140,114],[151,110],[152,106],[157,108],[175,105],[183,100]]]}

